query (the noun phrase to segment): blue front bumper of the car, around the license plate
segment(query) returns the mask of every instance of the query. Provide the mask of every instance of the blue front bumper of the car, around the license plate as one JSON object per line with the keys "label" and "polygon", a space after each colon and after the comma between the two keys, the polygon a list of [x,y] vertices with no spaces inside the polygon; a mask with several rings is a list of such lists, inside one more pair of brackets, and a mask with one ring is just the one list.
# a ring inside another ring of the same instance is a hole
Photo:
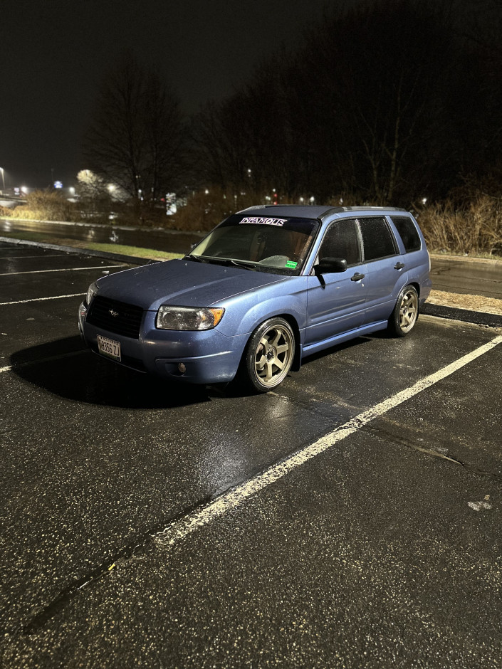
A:
{"label": "blue front bumper of the car, around the license plate", "polygon": [[[231,381],[247,342],[246,334],[226,337],[217,328],[200,332],[158,330],[155,327],[157,312],[152,311],[143,315],[139,339],[131,339],[90,325],[85,320],[86,314],[83,302],[78,310],[78,329],[85,344],[95,353],[98,353],[97,337],[101,334],[120,342],[122,359],[112,362],[194,384]],[[180,364],[184,372],[180,372]]]}

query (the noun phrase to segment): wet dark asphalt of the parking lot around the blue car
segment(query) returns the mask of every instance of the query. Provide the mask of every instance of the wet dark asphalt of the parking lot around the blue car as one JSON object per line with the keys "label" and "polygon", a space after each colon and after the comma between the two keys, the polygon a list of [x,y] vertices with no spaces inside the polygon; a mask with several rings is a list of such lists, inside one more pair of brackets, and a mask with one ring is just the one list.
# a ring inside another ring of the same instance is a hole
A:
{"label": "wet dark asphalt of the parking lot around the blue car", "polygon": [[121,264],[0,244],[0,664],[500,667],[500,331],[422,316],[275,393],[176,386],[80,343]]}

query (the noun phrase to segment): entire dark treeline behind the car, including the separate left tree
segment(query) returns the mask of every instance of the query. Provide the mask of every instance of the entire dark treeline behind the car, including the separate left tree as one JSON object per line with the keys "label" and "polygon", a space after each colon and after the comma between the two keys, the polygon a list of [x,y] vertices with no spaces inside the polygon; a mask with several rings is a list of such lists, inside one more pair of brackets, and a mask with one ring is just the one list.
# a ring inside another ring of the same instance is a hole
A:
{"label": "entire dark treeline behind the car, including the separate left tree", "polygon": [[199,191],[204,211],[206,189],[230,209],[273,189],[325,204],[501,196],[501,14],[499,0],[327,14],[186,125],[169,87],[126,57],[100,91],[85,167],[152,204]]}

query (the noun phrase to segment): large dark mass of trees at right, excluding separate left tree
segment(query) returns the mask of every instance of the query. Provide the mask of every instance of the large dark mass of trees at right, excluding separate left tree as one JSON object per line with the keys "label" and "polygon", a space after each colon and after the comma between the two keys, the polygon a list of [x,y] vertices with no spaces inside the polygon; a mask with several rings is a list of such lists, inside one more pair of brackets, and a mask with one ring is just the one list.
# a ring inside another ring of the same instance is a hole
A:
{"label": "large dark mass of trees at right, excluding separate left tree", "polygon": [[498,173],[502,52],[480,16],[407,0],[326,17],[194,120],[199,182],[409,206]]}

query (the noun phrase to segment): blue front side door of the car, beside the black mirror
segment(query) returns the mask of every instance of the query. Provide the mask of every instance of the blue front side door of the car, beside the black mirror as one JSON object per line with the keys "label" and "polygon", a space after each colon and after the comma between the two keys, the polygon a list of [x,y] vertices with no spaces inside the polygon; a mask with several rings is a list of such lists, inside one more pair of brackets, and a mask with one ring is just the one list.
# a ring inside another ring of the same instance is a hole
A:
{"label": "blue front side door of the car, beside the black mirror", "polygon": [[367,292],[360,233],[354,219],[335,221],[325,232],[318,260],[344,258],[345,272],[308,277],[305,345],[322,342],[362,325]]}

